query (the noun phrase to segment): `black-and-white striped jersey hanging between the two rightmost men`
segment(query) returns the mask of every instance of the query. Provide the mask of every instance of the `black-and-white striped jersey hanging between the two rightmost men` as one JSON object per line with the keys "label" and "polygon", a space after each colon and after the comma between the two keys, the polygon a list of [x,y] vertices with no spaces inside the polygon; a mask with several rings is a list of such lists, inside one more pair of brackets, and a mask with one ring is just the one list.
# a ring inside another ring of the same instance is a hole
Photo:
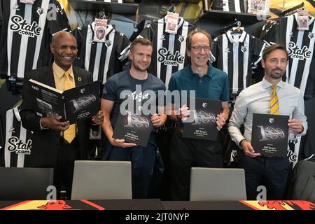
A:
{"label": "black-and-white striped jersey hanging between the two rightmost men", "polygon": [[252,69],[262,59],[266,43],[242,31],[240,34],[226,32],[214,38],[210,61],[228,73],[230,92],[239,93],[252,84]]}

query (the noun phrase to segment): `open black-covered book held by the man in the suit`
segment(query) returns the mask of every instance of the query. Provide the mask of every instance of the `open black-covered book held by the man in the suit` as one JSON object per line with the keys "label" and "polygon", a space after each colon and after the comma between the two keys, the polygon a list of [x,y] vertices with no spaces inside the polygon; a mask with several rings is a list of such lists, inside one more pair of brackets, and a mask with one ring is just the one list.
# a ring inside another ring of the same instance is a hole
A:
{"label": "open black-covered book held by the man in the suit", "polygon": [[90,118],[99,111],[99,81],[80,85],[62,92],[36,80],[29,80],[36,98],[36,114],[62,116],[70,124]]}

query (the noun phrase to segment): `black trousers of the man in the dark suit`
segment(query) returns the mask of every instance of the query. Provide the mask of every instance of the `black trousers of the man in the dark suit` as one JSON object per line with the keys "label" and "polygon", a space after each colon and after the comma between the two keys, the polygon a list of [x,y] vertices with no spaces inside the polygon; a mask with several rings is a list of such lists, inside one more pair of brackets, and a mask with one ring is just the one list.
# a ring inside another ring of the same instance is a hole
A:
{"label": "black trousers of the man in the dark suit", "polygon": [[54,171],[54,183],[57,188],[57,198],[59,198],[62,186],[66,189],[66,197],[71,198],[72,179],[74,161],[79,158],[78,137],[73,139],[71,144],[66,143],[64,138],[60,137],[57,155],[57,167]]}

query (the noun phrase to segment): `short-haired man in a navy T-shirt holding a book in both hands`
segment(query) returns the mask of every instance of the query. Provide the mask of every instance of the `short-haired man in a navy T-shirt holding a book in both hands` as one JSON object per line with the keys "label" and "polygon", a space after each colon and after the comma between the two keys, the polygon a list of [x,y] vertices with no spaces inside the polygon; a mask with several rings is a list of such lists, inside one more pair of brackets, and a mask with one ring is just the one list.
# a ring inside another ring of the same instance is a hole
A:
{"label": "short-haired man in a navy T-shirt holding a book in both hands", "polygon": [[[104,112],[102,129],[108,139],[103,160],[125,160],[132,162],[132,198],[146,198],[153,193],[155,179],[153,171],[155,165],[161,164],[162,160],[155,144],[155,137],[151,133],[146,147],[127,143],[124,139],[114,139],[113,129],[120,111],[120,104],[125,101],[122,92],[132,92],[133,99],[143,104],[147,97],[143,94],[146,90],[155,92],[165,90],[165,84],[156,78],[147,69],[151,63],[152,44],[146,38],[137,38],[130,45],[129,58],[132,62],[130,70],[116,73],[109,78],[103,89],[101,111]],[[137,87],[136,87],[137,85]],[[141,87],[141,91],[139,91]],[[158,98],[158,97],[157,97]],[[158,102],[158,99],[157,99]],[[164,107],[164,106],[163,106]],[[163,108],[164,111],[164,108]],[[151,116],[153,127],[164,125],[167,120],[165,114],[154,113]],[[162,169],[162,167],[161,167]]]}

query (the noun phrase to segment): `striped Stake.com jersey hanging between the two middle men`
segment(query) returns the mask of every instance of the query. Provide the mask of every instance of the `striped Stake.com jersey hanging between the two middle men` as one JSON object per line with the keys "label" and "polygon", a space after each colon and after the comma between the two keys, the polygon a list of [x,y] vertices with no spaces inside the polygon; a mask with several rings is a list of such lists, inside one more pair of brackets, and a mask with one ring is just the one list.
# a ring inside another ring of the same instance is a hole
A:
{"label": "striped Stake.com jersey hanging between the two middle men", "polygon": [[165,18],[148,23],[139,36],[153,44],[153,55],[149,71],[162,79],[168,87],[172,73],[183,69],[188,62],[186,57],[186,38],[195,25],[179,18],[177,34],[165,32]]}

